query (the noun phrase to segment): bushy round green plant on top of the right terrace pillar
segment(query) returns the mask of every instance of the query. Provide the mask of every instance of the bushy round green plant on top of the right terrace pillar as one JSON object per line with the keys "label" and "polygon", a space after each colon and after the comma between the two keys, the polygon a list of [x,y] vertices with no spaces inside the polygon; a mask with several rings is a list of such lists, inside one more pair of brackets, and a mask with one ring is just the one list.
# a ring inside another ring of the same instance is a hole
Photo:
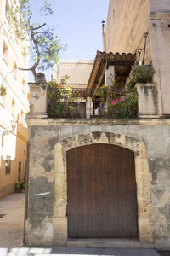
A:
{"label": "bushy round green plant on top of the right terrace pillar", "polygon": [[133,88],[138,83],[151,83],[155,73],[152,65],[134,65],[131,71],[131,79],[127,84],[128,88]]}

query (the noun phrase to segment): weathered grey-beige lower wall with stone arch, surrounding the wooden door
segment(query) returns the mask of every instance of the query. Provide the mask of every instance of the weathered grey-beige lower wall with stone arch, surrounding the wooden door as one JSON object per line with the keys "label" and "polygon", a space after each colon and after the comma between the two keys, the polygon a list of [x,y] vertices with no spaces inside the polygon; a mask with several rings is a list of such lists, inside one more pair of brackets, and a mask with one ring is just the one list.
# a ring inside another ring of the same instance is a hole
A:
{"label": "weathered grey-beige lower wall with stone arch, surrounding the wooden door", "polygon": [[141,247],[170,248],[170,119],[28,119],[25,241],[66,245],[66,151],[91,143],[133,150]]}

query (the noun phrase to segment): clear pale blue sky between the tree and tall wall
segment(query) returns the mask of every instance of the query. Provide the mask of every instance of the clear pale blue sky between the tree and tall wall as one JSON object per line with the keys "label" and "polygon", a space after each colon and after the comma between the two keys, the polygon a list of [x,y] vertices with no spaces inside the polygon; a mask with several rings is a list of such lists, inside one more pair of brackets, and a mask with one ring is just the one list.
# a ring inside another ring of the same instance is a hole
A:
{"label": "clear pale blue sky between the tree and tall wall", "polygon": [[[33,0],[33,9],[38,16],[38,2]],[[96,51],[102,50],[101,21],[107,17],[109,0],[48,0],[54,11],[48,15],[48,25],[61,43],[66,44],[60,52],[60,60],[93,60]],[[49,76],[49,71],[47,76]],[[48,77],[49,79],[49,77]]]}

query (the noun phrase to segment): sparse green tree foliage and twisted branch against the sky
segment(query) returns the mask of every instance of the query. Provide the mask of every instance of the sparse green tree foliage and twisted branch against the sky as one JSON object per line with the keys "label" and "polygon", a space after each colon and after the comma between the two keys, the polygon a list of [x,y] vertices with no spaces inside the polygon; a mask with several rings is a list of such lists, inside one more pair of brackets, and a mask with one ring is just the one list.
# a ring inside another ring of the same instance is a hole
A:
{"label": "sparse green tree foliage and twisted branch against the sky", "polygon": [[[59,51],[64,47],[60,44],[58,36],[54,35],[54,29],[48,27],[46,22],[35,23],[32,21],[31,1],[20,0],[20,4],[14,1],[15,6],[8,7],[8,20],[10,24],[13,24],[14,33],[21,41],[26,41],[29,37],[33,65],[25,70],[30,70],[35,78],[36,69],[43,71],[52,67],[59,60]],[[53,13],[48,0],[38,3],[42,3],[42,6],[39,7],[42,20]]]}

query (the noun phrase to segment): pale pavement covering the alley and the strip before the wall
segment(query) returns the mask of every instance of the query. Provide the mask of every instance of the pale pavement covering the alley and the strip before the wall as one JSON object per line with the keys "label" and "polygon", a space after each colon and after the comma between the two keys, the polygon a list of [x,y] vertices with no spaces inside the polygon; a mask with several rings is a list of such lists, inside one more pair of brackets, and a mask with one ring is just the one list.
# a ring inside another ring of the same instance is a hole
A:
{"label": "pale pavement covering the alley and the strip before the wall", "polygon": [[[14,193],[0,200],[0,256],[113,255],[159,256],[152,249],[92,247],[23,247],[25,194]],[[163,255],[163,254],[162,254]],[[170,256],[166,254],[166,256]]]}

